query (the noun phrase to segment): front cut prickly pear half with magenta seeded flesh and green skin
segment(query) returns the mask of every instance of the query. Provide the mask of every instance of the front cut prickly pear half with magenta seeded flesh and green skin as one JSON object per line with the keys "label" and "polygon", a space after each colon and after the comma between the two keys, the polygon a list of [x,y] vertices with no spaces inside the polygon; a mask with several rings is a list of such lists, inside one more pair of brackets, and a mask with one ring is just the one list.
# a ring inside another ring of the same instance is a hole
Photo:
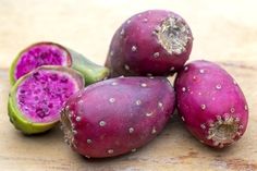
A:
{"label": "front cut prickly pear half with magenta seeded flesh and green skin", "polygon": [[84,87],[84,77],[64,66],[40,66],[22,76],[9,97],[9,117],[25,134],[50,130],[66,99]]}

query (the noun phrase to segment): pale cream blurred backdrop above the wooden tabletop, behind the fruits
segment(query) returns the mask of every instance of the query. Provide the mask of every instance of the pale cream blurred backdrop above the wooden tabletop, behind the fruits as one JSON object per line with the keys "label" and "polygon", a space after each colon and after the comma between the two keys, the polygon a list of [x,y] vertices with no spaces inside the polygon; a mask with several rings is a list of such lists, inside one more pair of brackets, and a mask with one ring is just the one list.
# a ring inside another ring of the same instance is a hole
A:
{"label": "pale cream blurred backdrop above the wooden tabletop, behind the fruits", "polygon": [[0,0],[0,66],[8,69],[26,46],[62,44],[102,64],[115,29],[148,9],[181,14],[194,35],[193,59],[254,60],[257,57],[254,0]]}

